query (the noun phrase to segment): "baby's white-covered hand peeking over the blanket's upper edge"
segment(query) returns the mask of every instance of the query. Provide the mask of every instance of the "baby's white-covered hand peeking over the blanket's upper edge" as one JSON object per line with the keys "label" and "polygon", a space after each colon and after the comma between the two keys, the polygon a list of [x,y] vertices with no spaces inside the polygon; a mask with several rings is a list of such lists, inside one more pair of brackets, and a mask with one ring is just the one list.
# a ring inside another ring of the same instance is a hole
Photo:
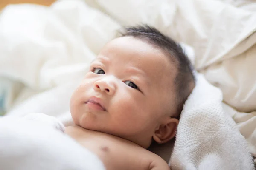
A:
{"label": "baby's white-covered hand peeking over the blanket's upper edge", "polygon": [[44,123],[45,125],[54,127],[55,129],[61,130],[62,132],[65,131],[64,125],[54,116],[49,116],[43,113],[29,113],[23,118]]}

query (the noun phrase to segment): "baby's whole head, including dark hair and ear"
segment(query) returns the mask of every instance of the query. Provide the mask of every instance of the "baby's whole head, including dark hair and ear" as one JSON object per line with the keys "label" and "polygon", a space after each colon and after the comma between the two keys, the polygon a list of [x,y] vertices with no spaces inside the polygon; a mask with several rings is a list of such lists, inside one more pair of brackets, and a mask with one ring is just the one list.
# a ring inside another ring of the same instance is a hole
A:
{"label": "baby's whole head, including dark hair and ear", "polygon": [[102,48],[74,92],[76,125],[142,147],[175,136],[183,104],[195,87],[182,48],[155,28],[125,28]]}

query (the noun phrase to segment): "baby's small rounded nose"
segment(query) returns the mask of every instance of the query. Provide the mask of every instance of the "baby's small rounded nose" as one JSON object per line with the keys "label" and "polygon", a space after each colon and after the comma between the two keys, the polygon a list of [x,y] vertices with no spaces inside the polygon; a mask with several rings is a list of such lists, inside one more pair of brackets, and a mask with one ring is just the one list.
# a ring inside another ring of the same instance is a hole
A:
{"label": "baby's small rounded nose", "polygon": [[116,91],[114,83],[106,79],[96,81],[93,88],[95,91],[102,91],[108,95],[113,95]]}

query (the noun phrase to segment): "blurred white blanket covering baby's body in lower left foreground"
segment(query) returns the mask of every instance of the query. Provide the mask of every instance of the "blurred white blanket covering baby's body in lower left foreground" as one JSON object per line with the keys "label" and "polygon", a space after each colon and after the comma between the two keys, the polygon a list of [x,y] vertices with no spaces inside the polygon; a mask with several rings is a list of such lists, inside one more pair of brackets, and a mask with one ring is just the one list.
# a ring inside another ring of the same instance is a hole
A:
{"label": "blurred white blanket covering baby's body in lower left foreground", "polygon": [[60,130],[15,116],[0,118],[0,153],[1,170],[105,170]]}

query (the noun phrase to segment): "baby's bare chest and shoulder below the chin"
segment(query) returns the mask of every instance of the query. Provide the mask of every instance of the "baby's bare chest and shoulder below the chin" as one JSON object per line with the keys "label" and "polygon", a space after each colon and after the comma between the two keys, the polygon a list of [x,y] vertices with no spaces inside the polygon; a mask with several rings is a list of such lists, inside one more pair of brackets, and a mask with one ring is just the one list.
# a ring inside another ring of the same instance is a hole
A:
{"label": "baby's bare chest and shoulder below the chin", "polygon": [[66,127],[66,133],[95,153],[109,170],[169,170],[160,156],[117,136],[80,127]]}

